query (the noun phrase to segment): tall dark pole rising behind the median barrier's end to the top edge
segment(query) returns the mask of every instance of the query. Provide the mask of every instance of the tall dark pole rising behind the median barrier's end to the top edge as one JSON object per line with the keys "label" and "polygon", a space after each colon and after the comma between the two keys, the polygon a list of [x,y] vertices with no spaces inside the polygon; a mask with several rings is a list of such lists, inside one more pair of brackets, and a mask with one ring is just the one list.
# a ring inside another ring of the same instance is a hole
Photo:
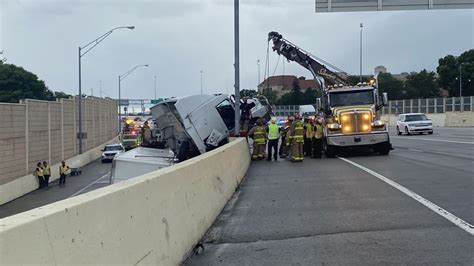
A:
{"label": "tall dark pole rising behind the median barrier's end to the top edge", "polygon": [[234,0],[235,136],[240,136],[239,0]]}

